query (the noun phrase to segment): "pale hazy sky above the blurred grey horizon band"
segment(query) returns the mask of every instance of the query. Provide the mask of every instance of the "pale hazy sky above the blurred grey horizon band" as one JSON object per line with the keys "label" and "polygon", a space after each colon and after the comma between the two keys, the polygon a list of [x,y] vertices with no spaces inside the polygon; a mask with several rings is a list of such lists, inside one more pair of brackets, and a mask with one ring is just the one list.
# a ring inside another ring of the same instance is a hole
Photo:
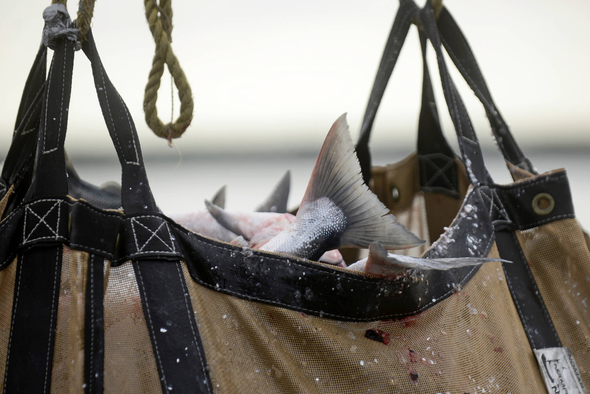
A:
{"label": "pale hazy sky above the blurred grey horizon band", "polygon": [[[0,16],[0,154],[10,141],[22,86],[40,43],[48,0],[9,2]],[[523,146],[590,146],[590,2],[449,0],[494,99]],[[195,118],[176,140],[183,155],[226,151],[317,151],[343,112],[356,140],[394,0],[181,1],[172,4],[173,48],[192,86]],[[77,9],[77,2],[70,1]],[[143,89],[154,44],[143,1],[99,0],[93,32],[110,79],[129,106],[146,154],[178,155],[143,119]],[[430,53],[430,60],[435,60]],[[114,149],[93,89],[90,64],[76,53],[67,146],[74,156]],[[450,140],[438,71],[439,112]],[[454,74],[480,138],[489,144],[483,108]],[[412,27],[385,93],[372,145],[415,144],[421,89],[418,34]],[[170,79],[158,109],[170,118]],[[179,101],[176,98],[175,116]]]}

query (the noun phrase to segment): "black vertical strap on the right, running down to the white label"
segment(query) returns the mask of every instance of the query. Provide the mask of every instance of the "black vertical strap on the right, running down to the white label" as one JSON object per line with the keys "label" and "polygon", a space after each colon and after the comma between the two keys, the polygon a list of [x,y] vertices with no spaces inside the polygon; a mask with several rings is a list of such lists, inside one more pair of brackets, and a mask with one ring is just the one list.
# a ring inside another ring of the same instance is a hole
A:
{"label": "black vertical strap on the right, running down to the white label", "polygon": [[510,264],[503,263],[504,275],[531,349],[561,347],[516,235],[513,231],[502,230],[496,232],[496,239],[500,257],[512,261]]}

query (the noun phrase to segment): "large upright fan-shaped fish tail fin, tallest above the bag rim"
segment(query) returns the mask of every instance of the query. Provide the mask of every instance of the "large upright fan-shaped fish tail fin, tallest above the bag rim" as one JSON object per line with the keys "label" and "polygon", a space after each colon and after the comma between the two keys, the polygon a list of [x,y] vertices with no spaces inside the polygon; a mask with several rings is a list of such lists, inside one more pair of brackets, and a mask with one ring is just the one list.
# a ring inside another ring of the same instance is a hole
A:
{"label": "large upright fan-shaped fish tail fin, tallest above the bag rim", "polygon": [[406,249],[425,242],[397,223],[363,183],[346,113],[334,122],[326,136],[299,211],[322,197],[330,198],[348,223],[338,247],[366,248],[373,240],[379,240],[387,249]]}

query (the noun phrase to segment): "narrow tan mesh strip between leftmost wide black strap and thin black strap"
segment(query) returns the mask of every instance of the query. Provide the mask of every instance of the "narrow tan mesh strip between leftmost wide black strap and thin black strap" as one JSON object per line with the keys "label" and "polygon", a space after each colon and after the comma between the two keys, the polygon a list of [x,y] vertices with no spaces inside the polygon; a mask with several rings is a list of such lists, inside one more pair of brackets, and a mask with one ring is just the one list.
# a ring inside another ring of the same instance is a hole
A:
{"label": "narrow tan mesh strip between leftmost wide black strap and thin black strap", "polygon": [[64,246],[51,392],[84,392],[84,310],[88,253]]}

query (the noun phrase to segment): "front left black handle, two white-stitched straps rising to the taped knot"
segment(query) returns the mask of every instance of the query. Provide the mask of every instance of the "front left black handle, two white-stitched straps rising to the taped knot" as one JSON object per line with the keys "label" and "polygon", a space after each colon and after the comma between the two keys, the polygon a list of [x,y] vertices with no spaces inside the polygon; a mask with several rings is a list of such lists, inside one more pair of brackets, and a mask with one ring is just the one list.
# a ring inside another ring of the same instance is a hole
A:
{"label": "front left black handle, two white-stitched straps rising to the taped knot", "polygon": [[[129,109],[110,82],[100,61],[92,32],[82,45],[90,60],[94,86],[104,121],[122,167],[122,206],[126,214],[158,211],[149,188],[139,138]],[[35,181],[27,198],[67,194],[64,142],[70,101],[74,44],[61,41],[55,48],[45,89],[37,146]]]}

